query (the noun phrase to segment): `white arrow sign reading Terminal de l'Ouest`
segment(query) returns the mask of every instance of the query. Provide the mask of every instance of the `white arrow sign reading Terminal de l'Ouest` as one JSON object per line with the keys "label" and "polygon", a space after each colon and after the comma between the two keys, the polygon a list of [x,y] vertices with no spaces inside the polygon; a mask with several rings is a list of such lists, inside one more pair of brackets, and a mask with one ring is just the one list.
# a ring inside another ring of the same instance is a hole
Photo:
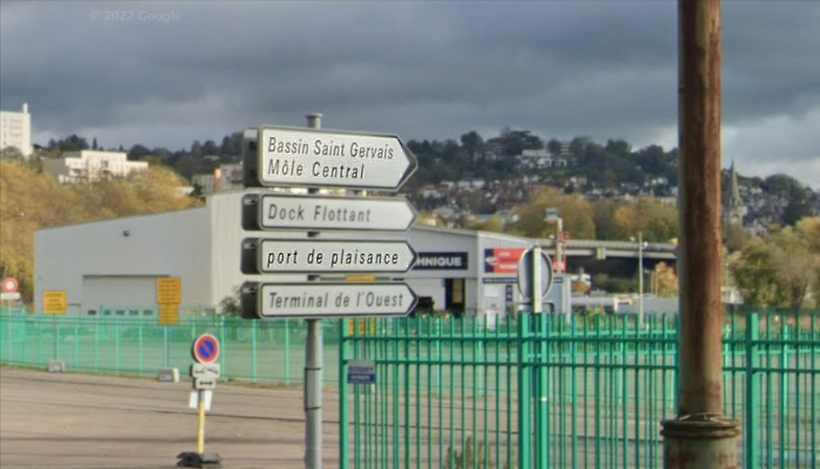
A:
{"label": "white arrow sign reading Terminal de l'Ouest", "polygon": [[406,284],[262,284],[257,291],[257,315],[406,316],[417,299]]}

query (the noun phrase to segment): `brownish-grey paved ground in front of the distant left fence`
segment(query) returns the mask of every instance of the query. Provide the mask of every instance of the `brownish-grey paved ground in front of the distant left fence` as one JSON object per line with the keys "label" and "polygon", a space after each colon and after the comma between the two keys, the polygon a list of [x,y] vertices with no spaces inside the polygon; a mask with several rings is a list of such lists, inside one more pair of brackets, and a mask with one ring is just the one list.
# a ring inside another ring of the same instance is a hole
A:
{"label": "brownish-grey paved ground in front of the distant left fence", "polygon": [[[187,371],[180,371],[185,374]],[[166,469],[195,452],[191,384],[0,367],[3,469]],[[339,467],[339,395],[325,389],[323,466]],[[220,383],[205,453],[225,469],[303,468],[301,388]]]}

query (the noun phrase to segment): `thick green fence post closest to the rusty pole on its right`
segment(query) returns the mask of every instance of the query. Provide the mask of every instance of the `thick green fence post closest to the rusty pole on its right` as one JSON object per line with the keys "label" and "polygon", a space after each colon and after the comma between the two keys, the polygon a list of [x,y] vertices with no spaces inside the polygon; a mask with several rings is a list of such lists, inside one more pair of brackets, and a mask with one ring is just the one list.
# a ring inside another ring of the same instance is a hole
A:
{"label": "thick green fence post closest to the rusty pole on its right", "polygon": [[[758,439],[760,414],[758,413],[759,386],[754,375],[758,367],[758,344],[760,338],[759,316],[754,312],[746,316],[746,442],[744,444],[745,467],[756,469],[758,466]],[[771,416],[769,416],[771,418]]]}

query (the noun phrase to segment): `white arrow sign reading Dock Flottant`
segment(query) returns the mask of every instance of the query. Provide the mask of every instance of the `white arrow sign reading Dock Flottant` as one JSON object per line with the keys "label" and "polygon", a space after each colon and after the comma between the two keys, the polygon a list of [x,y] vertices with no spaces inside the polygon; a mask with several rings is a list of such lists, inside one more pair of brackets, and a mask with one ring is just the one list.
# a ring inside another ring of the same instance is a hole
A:
{"label": "white arrow sign reading Dock Flottant", "polygon": [[406,231],[416,215],[404,198],[262,194],[258,226],[262,230]]}

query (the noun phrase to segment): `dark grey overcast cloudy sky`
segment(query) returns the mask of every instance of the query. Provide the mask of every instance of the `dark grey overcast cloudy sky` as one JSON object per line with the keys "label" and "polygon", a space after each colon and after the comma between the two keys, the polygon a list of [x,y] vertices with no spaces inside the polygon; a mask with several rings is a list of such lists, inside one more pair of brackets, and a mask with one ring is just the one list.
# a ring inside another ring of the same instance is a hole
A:
{"label": "dark grey overcast cloudy sky", "polygon": [[[820,2],[724,0],[723,165],[820,189]],[[0,2],[34,141],[172,150],[258,125],[677,146],[677,2]]]}

